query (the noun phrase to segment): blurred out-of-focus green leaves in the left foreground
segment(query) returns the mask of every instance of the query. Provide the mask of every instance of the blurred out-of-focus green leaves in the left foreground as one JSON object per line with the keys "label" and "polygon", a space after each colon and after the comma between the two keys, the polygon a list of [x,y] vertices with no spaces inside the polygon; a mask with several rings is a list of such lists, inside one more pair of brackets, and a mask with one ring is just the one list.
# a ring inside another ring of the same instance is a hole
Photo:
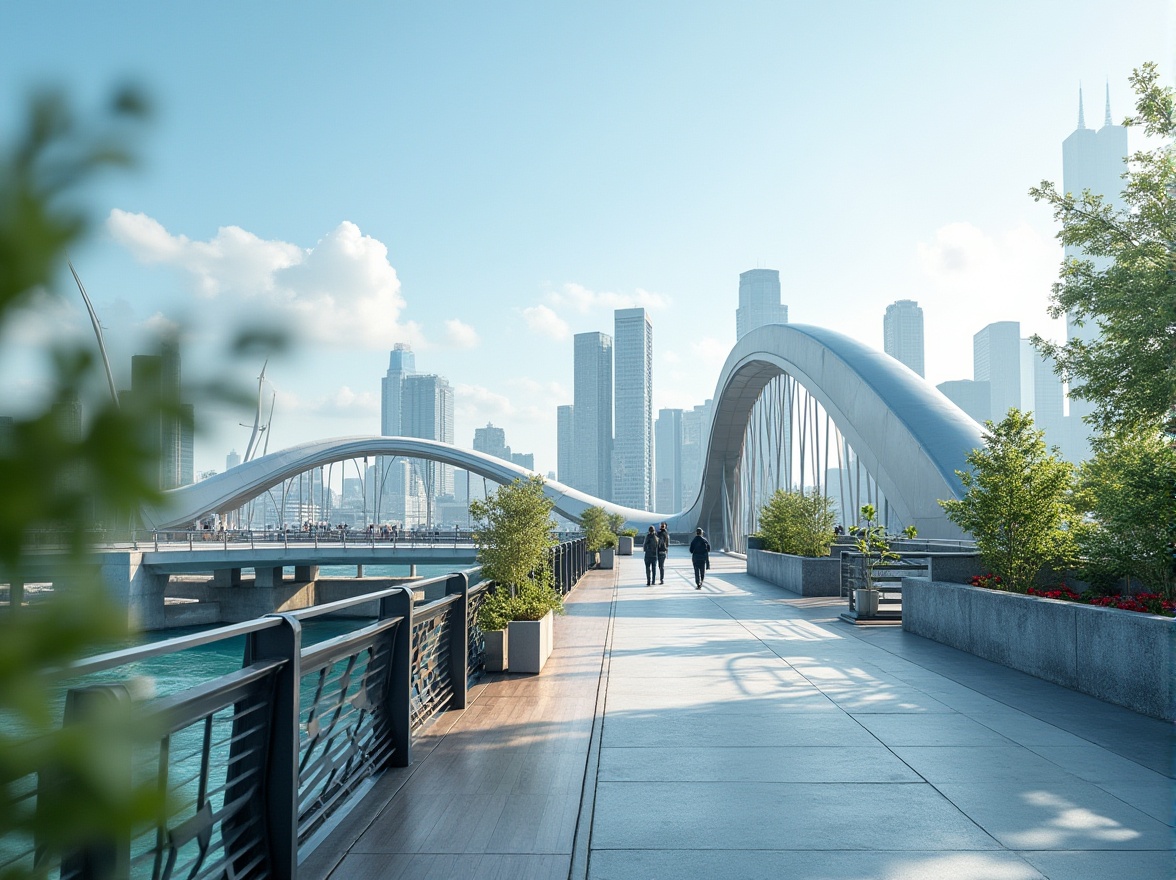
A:
{"label": "blurred out-of-focus green leaves in the left foreground", "polygon": [[[26,128],[0,147],[0,335],[52,291],[67,248],[89,228],[79,193],[107,167],[132,161],[128,126],[145,115],[133,92],[115,95],[98,122],[80,121],[64,98],[34,99]],[[165,401],[119,409],[109,396],[87,399],[105,385],[96,359],[59,344],[49,353],[51,388],[36,412],[0,433],[0,584],[11,587],[0,607],[0,839],[36,839],[35,867],[0,869],[5,880],[46,876],[62,855],[91,842],[129,834],[162,808],[151,780],[132,785],[111,772],[112,754],[151,736],[125,711],[94,712],[61,727],[58,686],[46,668],[69,662],[126,638],[126,609],[111,600],[89,554],[95,512],[126,525],[156,500],[158,453],[139,439]],[[56,405],[86,401],[83,435],[73,439],[54,415]],[[66,541],[59,586],[35,608],[20,607],[35,552],[29,533],[52,529]],[[46,784],[36,802],[20,794],[31,774]]]}

